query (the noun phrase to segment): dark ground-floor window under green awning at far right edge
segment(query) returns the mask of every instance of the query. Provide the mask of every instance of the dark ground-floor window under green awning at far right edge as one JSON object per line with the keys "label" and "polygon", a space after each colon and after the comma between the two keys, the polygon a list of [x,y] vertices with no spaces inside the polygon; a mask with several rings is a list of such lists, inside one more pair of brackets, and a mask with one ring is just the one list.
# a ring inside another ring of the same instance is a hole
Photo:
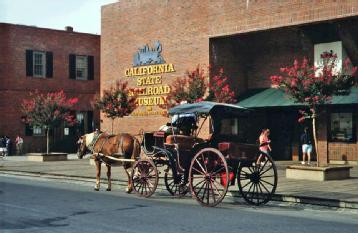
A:
{"label": "dark ground-floor window under green awning at far right edge", "polygon": [[355,141],[353,113],[331,113],[330,128],[331,141]]}

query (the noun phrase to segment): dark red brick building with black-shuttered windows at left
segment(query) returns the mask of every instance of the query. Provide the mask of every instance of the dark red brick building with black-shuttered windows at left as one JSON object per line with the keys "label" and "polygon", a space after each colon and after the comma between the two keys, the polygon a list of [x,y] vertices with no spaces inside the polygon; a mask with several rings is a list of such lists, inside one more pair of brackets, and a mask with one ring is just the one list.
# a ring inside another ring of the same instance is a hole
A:
{"label": "dark red brick building with black-shuttered windows at left", "polygon": [[21,122],[21,102],[30,91],[64,90],[79,98],[73,109],[79,124],[51,131],[51,151],[75,151],[78,134],[99,126],[91,100],[99,93],[100,36],[0,23],[0,51],[0,135],[13,142],[21,135],[25,152],[45,151],[44,130]]}

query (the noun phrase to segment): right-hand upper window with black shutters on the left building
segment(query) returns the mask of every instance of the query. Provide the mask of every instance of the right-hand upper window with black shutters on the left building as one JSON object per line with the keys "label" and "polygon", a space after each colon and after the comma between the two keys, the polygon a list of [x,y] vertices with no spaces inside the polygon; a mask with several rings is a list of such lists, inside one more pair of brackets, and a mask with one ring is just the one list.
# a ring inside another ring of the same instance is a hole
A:
{"label": "right-hand upper window with black shutters on the left building", "polygon": [[69,76],[70,79],[93,80],[94,78],[93,56],[70,54]]}

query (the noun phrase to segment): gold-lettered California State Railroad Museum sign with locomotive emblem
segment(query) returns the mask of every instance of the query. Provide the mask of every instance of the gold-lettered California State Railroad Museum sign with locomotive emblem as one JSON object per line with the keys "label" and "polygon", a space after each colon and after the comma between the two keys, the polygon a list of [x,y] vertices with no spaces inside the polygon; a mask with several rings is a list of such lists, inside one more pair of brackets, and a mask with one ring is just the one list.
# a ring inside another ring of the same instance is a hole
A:
{"label": "gold-lettered California State Railroad Museum sign with locomotive emblem", "polygon": [[136,79],[136,88],[139,89],[138,108],[131,116],[163,115],[165,109],[159,105],[166,103],[171,89],[163,83],[165,74],[175,72],[174,65],[166,63],[161,55],[162,45],[159,41],[150,48],[147,44],[133,56],[133,67],[125,70],[127,78]]}

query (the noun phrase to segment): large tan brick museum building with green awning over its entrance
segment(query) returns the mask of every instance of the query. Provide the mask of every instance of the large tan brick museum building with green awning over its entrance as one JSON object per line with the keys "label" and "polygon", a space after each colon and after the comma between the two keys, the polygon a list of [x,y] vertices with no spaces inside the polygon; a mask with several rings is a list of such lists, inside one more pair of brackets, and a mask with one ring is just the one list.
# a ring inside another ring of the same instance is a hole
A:
{"label": "large tan brick museum building with green awning over its entrance", "polygon": [[[269,77],[294,58],[316,61],[322,48],[333,48],[341,60],[348,56],[358,65],[357,25],[358,1],[353,0],[120,1],[102,7],[101,90],[117,79],[154,90],[197,64],[223,67],[239,104],[257,110],[255,117],[242,121],[245,140],[254,141],[260,128],[269,127],[273,157],[296,158],[302,132],[297,124],[299,107],[270,89]],[[172,64],[174,70],[154,72],[159,68],[137,63],[148,51],[157,51],[159,63]],[[133,75],[128,71],[133,67],[142,70]],[[159,73],[159,81],[143,85],[139,79],[152,73]],[[115,128],[133,134],[139,129],[157,130],[167,119],[158,113],[153,96],[150,93],[147,104],[118,120]],[[326,106],[318,137],[327,161],[358,161],[357,113],[356,89]],[[109,129],[110,121],[103,118],[102,127]]]}

